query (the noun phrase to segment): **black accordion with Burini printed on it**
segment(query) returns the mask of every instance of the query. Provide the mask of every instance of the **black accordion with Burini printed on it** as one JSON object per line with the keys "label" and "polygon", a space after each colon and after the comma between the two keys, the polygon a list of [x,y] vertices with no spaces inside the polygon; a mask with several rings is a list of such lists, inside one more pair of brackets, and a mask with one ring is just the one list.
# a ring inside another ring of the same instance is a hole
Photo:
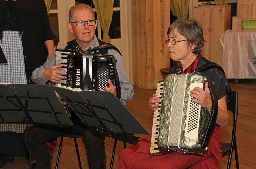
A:
{"label": "black accordion with Burini printed on it", "polygon": [[[108,79],[112,81],[121,98],[121,87],[116,70],[116,60],[113,55],[88,54],[71,49],[56,50],[56,65],[62,64],[59,70],[67,72],[67,80],[56,83],[57,87],[80,88],[83,91],[99,91],[109,87]],[[61,98],[60,98],[61,99]],[[62,99],[61,99],[62,102]],[[65,103],[64,103],[65,104]],[[66,105],[67,114],[73,122],[80,121]]]}

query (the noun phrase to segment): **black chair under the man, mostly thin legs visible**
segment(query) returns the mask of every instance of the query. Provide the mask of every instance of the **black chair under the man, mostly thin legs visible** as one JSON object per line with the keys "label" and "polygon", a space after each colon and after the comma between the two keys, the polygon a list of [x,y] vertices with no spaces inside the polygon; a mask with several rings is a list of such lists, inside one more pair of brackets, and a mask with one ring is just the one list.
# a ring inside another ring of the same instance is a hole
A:
{"label": "black chair under the man, mostly thin legs visible", "polygon": [[[83,138],[83,135],[65,135],[64,137],[74,138],[75,149],[76,149],[76,155],[77,155],[77,158],[78,158],[79,168],[82,169],[82,165],[81,165],[81,161],[80,161],[80,155],[79,155],[79,150],[78,150],[78,145],[77,145],[76,138],[82,139],[82,138]],[[59,151],[58,151],[58,156],[57,156],[57,161],[56,161],[56,167],[55,167],[55,169],[58,168],[59,156],[61,155],[62,142],[63,142],[63,137],[61,137],[61,140],[60,140],[60,142],[59,142]],[[113,152],[112,152],[112,158],[111,158],[111,163],[110,163],[110,169],[112,169],[112,167],[113,167],[113,162],[114,162],[114,157],[115,157],[115,151],[116,151],[116,144],[117,144],[117,140],[115,140],[114,146],[113,146]],[[126,148],[125,142],[123,142],[123,146],[124,146],[124,148]]]}

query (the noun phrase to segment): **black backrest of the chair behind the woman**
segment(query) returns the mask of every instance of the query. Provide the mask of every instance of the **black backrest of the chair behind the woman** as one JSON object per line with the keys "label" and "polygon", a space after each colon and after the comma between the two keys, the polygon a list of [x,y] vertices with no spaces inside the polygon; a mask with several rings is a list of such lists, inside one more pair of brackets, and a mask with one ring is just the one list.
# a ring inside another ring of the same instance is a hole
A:
{"label": "black backrest of the chair behind the woman", "polygon": [[231,91],[231,101],[227,104],[227,110],[230,110],[233,113],[233,121],[237,121],[238,93],[235,90]]}

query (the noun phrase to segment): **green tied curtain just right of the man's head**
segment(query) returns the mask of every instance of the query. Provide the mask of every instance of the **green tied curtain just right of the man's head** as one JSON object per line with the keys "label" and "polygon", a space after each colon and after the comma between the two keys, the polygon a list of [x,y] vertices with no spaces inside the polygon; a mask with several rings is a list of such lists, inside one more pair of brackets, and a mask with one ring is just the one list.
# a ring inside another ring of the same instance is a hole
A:
{"label": "green tied curtain just right of the man's head", "polygon": [[108,35],[109,27],[112,21],[113,4],[114,0],[93,0],[95,10],[103,30],[103,41],[106,43],[111,42],[111,38]]}

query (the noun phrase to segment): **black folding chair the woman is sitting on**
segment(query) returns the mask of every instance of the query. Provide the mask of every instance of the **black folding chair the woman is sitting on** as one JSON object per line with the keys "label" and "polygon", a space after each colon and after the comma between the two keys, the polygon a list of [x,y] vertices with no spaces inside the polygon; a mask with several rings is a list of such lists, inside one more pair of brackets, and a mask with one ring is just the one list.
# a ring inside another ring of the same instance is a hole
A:
{"label": "black folding chair the woman is sitting on", "polygon": [[234,90],[231,91],[232,100],[229,104],[227,104],[227,110],[230,110],[233,113],[233,130],[232,130],[232,138],[231,143],[221,143],[221,151],[222,157],[228,155],[228,163],[227,169],[230,168],[232,152],[235,151],[236,158],[236,167],[239,169],[238,164],[238,154],[237,154],[237,145],[236,145],[236,122],[237,122],[237,114],[238,114],[238,93]]}

